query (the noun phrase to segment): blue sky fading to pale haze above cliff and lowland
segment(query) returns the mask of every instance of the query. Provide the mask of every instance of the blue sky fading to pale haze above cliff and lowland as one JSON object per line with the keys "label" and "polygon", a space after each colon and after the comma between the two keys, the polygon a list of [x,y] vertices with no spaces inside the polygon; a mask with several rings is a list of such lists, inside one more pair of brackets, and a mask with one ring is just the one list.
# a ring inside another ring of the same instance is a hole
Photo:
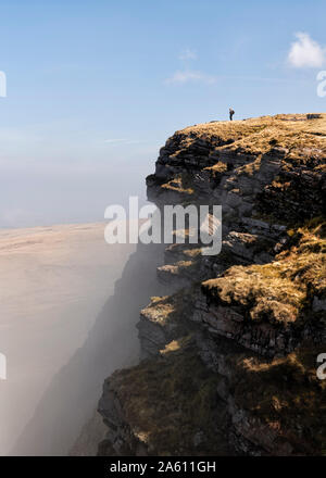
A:
{"label": "blue sky fading to pale haze above cliff and lowland", "polygon": [[236,118],[325,111],[324,1],[0,8],[0,226],[101,218],[145,194],[167,136],[229,106]]}

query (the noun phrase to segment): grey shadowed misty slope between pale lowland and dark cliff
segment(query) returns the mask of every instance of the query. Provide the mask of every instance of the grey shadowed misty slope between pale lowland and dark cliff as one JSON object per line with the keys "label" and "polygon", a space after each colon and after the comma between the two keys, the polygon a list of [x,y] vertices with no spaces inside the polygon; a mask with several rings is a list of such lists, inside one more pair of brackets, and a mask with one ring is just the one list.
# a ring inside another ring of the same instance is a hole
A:
{"label": "grey shadowed misty slope between pale lowland and dark cliff", "polygon": [[[151,294],[168,290],[156,281],[162,254],[162,244],[140,243],[129,255],[121,279],[115,282],[85,342],[49,377],[33,416],[10,454],[96,454],[98,441],[103,438],[101,420],[95,413],[103,380],[114,369],[138,362],[135,326],[139,310],[148,304]],[[65,336],[63,328],[64,341]],[[70,338],[74,340],[72,335]]]}

